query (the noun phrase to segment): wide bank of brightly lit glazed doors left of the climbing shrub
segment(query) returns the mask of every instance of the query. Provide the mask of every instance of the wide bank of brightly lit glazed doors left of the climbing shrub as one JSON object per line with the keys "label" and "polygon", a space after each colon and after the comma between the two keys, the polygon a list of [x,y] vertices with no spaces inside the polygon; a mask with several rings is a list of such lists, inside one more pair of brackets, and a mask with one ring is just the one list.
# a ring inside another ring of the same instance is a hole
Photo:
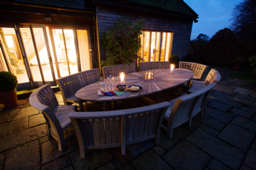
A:
{"label": "wide bank of brightly lit glazed doors left of the climbing shrub", "polygon": [[0,71],[14,73],[17,88],[56,85],[55,79],[90,68],[87,27],[0,26]]}

